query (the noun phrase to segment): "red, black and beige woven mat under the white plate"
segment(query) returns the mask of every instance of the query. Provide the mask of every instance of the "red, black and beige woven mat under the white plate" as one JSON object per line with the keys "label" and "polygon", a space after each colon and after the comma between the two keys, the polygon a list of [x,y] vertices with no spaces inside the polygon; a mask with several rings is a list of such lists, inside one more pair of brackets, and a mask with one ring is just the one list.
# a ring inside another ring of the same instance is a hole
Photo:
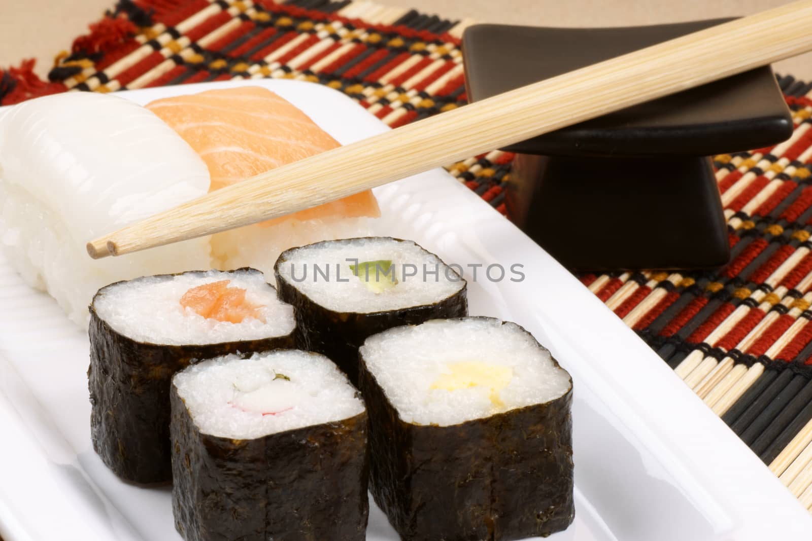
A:
{"label": "red, black and beige woven mat under the white plate", "polygon": [[[3,72],[0,103],[275,77],[339,89],[398,127],[465,104],[468,24],[349,0],[120,0],[58,55],[49,81],[30,61]],[[793,138],[715,157],[730,264],[580,278],[792,486],[788,445],[812,446],[812,84],[780,87]],[[504,213],[511,160],[494,151],[448,169]]]}

